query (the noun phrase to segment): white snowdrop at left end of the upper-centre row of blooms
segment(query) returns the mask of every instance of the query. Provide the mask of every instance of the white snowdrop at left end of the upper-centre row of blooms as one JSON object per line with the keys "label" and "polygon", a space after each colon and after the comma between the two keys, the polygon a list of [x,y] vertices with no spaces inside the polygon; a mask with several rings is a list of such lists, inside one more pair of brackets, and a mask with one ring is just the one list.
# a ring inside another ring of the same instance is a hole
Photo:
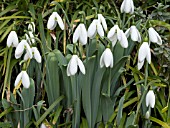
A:
{"label": "white snowdrop at left end of the upper-centre row of blooms", "polygon": [[84,24],[79,24],[73,34],[73,43],[76,43],[77,40],[80,41],[82,45],[87,43],[87,30]]}

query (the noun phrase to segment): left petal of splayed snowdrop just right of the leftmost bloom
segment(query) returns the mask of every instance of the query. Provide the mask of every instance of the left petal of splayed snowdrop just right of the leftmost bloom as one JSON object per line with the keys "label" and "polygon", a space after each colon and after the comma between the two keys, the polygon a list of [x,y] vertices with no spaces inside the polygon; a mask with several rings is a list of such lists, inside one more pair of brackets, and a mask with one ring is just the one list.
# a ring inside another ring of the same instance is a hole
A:
{"label": "left petal of splayed snowdrop just right of the leftmost bloom", "polygon": [[24,45],[27,43],[26,40],[22,40],[15,49],[15,58],[18,59],[24,52]]}

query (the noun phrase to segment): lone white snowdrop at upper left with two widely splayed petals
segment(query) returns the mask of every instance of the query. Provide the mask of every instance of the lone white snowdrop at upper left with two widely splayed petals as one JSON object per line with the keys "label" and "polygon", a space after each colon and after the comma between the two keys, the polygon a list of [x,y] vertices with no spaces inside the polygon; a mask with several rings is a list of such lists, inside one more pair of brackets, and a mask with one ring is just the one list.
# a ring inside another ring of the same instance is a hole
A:
{"label": "lone white snowdrop at upper left with two widely splayed petals", "polygon": [[58,15],[57,12],[53,12],[48,19],[47,28],[50,30],[53,30],[56,27],[57,23],[58,23],[59,27],[62,30],[64,30],[64,23],[63,23],[61,17]]}

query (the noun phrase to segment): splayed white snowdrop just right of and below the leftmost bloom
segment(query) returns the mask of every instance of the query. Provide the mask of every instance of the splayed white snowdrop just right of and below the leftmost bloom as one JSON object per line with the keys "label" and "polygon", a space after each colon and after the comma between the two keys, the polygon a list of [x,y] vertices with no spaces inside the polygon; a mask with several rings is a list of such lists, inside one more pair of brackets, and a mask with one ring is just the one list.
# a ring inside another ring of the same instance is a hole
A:
{"label": "splayed white snowdrop just right of and below the leftmost bloom", "polygon": [[29,58],[32,58],[32,51],[31,51],[31,48],[29,46],[29,44],[27,43],[26,40],[22,40],[16,50],[15,50],[15,58],[18,59],[22,56],[23,52],[24,52],[24,49],[26,49],[26,51],[28,52],[28,55],[29,55]]}

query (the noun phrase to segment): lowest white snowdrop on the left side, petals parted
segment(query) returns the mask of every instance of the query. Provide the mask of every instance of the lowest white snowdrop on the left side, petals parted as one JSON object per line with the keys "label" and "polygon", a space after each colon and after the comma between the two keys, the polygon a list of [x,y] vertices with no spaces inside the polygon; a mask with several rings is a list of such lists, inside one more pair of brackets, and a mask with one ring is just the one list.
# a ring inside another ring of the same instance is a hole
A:
{"label": "lowest white snowdrop on the left side, petals parted", "polygon": [[22,84],[23,84],[23,86],[25,88],[29,88],[29,86],[30,86],[30,79],[29,79],[29,76],[28,76],[26,71],[21,71],[18,74],[18,76],[17,76],[17,78],[15,80],[15,84],[14,84],[15,87],[19,84],[20,81],[22,82]]}

